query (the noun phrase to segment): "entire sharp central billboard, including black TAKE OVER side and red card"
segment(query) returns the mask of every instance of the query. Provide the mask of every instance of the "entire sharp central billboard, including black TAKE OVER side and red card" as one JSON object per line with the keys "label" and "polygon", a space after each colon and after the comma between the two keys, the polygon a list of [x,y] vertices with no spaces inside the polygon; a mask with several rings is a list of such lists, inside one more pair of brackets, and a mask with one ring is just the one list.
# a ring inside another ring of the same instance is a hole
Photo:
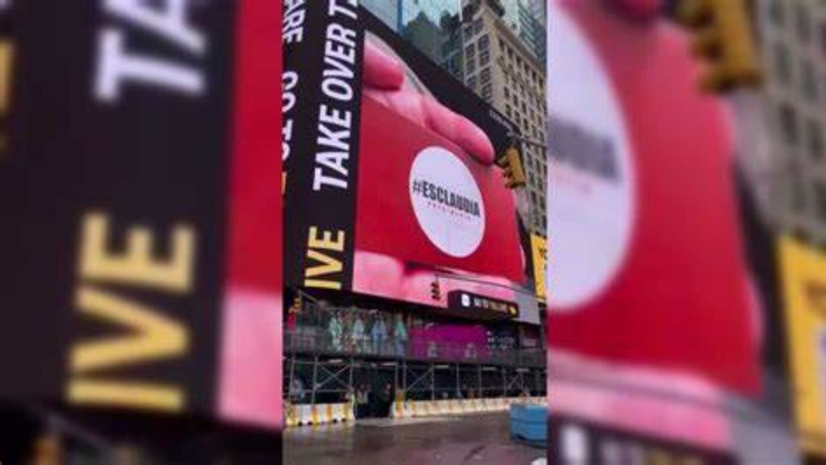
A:
{"label": "entire sharp central billboard, including black TAKE OVER side and red card", "polygon": [[492,163],[515,126],[363,8],[336,11],[308,6],[317,34],[285,55],[301,102],[284,113],[287,284],[441,307],[463,290],[538,323],[529,238]]}

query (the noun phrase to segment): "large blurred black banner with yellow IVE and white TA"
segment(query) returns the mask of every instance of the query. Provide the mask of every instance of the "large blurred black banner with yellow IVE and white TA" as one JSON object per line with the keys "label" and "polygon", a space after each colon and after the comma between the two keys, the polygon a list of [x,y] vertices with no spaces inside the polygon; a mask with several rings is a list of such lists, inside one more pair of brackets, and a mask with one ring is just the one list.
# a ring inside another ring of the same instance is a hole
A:
{"label": "large blurred black banner with yellow IVE and white TA", "polygon": [[16,2],[3,398],[214,407],[234,5]]}

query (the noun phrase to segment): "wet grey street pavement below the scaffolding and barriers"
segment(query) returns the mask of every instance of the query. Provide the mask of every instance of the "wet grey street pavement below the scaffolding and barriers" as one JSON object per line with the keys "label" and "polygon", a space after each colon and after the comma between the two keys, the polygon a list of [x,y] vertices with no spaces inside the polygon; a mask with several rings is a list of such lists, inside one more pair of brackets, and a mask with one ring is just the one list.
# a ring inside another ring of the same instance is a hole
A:
{"label": "wet grey street pavement below the scaffolding and barriers", "polygon": [[298,427],[284,433],[287,464],[528,464],[545,449],[517,444],[508,415],[359,420],[356,425]]}

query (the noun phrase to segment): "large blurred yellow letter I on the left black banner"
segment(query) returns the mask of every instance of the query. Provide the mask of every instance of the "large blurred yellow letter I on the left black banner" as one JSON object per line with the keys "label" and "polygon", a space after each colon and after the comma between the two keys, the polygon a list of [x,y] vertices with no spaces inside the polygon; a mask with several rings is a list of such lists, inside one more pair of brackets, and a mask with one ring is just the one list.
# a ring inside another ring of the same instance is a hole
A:
{"label": "large blurred yellow letter I on the left black banner", "polygon": [[183,391],[177,387],[149,382],[74,378],[69,381],[69,401],[76,404],[178,411],[183,409]]}

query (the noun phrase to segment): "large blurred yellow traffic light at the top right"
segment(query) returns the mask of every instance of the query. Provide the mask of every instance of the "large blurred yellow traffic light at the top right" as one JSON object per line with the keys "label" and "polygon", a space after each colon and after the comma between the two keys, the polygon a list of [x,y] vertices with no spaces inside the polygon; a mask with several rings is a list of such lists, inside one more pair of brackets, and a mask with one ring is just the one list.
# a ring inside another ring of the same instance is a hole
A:
{"label": "large blurred yellow traffic light at the top right", "polygon": [[709,60],[700,87],[723,92],[762,78],[746,0],[682,0],[680,22],[695,31],[691,49]]}

